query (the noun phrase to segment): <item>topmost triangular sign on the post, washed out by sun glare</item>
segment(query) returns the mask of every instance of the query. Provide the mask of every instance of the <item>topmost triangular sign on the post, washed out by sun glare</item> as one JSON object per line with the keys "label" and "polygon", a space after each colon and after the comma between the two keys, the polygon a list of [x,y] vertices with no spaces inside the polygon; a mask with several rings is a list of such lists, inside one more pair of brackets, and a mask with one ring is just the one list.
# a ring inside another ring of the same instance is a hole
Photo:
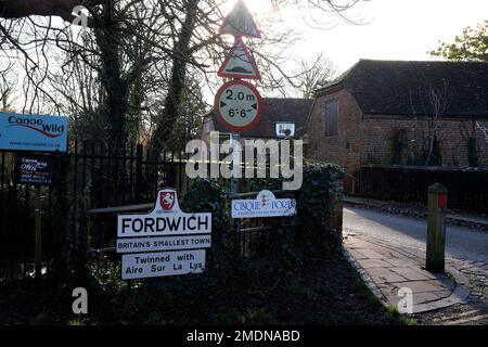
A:
{"label": "topmost triangular sign on the post, washed out by sun glare", "polygon": [[223,21],[219,34],[229,34],[237,37],[261,37],[261,33],[254,22],[253,15],[242,0],[237,1],[232,12]]}

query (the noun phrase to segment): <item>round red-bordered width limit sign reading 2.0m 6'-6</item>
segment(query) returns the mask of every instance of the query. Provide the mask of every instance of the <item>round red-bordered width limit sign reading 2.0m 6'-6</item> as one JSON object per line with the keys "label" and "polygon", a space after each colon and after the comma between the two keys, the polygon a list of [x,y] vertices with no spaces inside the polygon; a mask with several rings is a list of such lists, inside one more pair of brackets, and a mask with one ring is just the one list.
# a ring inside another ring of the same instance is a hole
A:
{"label": "round red-bordered width limit sign reading 2.0m 6'-6", "polygon": [[229,130],[249,131],[261,120],[262,98],[256,87],[243,80],[224,83],[215,97],[215,112]]}

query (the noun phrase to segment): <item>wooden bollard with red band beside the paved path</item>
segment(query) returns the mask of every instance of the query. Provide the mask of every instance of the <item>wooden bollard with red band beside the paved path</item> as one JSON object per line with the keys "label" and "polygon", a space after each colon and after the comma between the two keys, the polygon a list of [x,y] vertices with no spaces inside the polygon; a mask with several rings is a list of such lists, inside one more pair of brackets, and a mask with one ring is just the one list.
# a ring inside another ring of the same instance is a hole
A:
{"label": "wooden bollard with red band beside the paved path", "polygon": [[446,264],[447,189],[440,183],[428,188],[426,269],[444,272]]}

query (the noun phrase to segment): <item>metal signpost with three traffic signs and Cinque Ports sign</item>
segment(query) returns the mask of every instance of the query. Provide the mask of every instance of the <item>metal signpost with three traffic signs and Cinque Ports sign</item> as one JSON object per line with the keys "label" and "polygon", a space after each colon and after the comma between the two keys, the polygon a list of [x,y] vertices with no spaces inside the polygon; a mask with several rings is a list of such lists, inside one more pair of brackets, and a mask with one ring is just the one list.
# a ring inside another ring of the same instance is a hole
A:
{"label": "metal signpost with three traffic signs and Cinque Ports sign", "polygon": [[[233,133],[232,141],[239,141],[239,132],[249,131],[261,120],[264,112],[259,91],[242,79],[260,79],[253,54],[247,49],[243,37],[259,38],[259,31],[252,14],[240,0],[223,21],[219,34],[235,37],[230,54],[223,61],[217,75],[234,78],[224,83],[215,97],[214,108],[217,119]],[[235,168],[234,168],[235,169]],[[239,195],[239,180],[233,178],[230,184],[231,196]],[[233,227],[239,230],[240,218],[285,217],[296,215],[296,201],[275,198],[270,191],[262,191],[256,200],[234,200],[232,204]]]}

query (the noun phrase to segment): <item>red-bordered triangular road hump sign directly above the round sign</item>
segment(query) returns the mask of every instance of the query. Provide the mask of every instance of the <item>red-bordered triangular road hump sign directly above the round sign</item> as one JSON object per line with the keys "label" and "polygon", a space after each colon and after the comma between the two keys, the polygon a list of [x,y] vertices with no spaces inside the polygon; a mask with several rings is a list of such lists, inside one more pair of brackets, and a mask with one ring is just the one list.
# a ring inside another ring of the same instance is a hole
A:
{"label": "red-bordered triangular road hump sign directly above the round sign", "polygon": [[236,38],[232,52],[217,73],[220,77],[261,79],[256,61],[242,38]]}

